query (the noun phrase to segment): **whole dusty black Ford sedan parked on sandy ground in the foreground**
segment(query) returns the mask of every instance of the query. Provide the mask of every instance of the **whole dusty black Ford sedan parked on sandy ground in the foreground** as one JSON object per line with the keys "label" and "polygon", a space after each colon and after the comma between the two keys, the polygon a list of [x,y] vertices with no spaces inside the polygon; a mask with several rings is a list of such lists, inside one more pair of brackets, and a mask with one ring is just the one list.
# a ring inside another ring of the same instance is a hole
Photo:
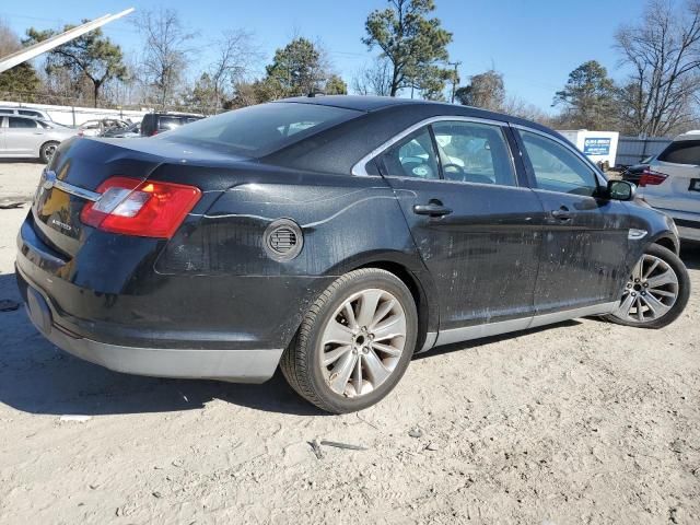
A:
{"label": "whole dusty black Ford sedan parked on sandy ground in the foreground", "polygon": [[300,97],[61,145],[16,275],[36,327],[82,359],[253,383],[279,365],[347,412],[435,346],[676,319],[690,284],[675,225],[633,197],[527,120]]}

